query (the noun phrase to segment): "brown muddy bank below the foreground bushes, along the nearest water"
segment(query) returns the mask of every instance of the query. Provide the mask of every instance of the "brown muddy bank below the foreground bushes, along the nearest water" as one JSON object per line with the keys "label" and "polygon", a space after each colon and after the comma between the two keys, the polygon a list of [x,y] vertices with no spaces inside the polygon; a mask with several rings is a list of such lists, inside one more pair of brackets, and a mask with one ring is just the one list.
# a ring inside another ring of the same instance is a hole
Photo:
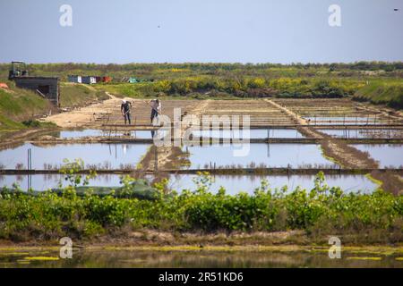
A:
{"label": "brown muddy bank below the foreground bushes, along the nearest water", "polygon": [[[390,233],[391,235],[397,235]],[[382,240],[375,232],[334,234],[344,247],[373,249],[376,251],[399,251],[403,253],[403,243]],[[331,235],[333,236],[333,235]],[[259,249],[301,249],[329,248],[330,235],[308,235],[305,231],[253,231],[232,232],[178,232],[178,231],[115,231],[113,235],[103,235],[91,240],[73,239],[76,248],[115,249],[155,249],[155,250],[253,250]],[[6,249],[59,248],[57,240],[30,240],[14,242],[0,240],[0,251]]]}

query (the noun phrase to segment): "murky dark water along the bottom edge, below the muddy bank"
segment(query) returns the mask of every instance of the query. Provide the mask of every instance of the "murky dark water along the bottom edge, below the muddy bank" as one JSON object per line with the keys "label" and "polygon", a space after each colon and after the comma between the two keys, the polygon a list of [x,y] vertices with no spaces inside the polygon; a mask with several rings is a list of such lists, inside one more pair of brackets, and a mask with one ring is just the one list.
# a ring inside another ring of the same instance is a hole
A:
{"label": "murky dark water along the bottom edge, below the muddy bank", "polygon": [[[30,261],[26,257],[39,254],[12,255],[0,253],[0,267],[403,267],[394,256],[377,259],[360,257],[346,251],[340,259],[330,259],[326,251],[143,251],[143,250],[83,250],[75,251],[72,259]],[[57,257],[58,252],[40,254]],[[363,257],[363,256],[361,256]]]}

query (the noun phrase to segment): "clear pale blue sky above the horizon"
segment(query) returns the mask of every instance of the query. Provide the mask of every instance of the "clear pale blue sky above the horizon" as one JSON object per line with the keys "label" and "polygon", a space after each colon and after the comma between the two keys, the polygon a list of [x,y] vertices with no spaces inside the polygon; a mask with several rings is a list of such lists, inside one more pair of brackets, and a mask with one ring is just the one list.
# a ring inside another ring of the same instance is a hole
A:
{"label": "clear pale blue sky above the horizon", "polygon": [[0,63],[403,61],[402,0],[1,0],[0,31]]}

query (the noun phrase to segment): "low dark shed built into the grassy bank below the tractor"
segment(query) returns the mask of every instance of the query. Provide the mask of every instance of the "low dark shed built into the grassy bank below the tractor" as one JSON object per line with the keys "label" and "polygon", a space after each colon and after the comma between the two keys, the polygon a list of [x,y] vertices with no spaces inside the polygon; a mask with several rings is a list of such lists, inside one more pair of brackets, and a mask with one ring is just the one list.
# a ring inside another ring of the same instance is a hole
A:
{"label": "low dark shed built into the grassy bank below the tractor", "polygon": [[47,98],[56,106],[60,104],[59,78],[56,77],[14,77],[17,88],[31,89]]}

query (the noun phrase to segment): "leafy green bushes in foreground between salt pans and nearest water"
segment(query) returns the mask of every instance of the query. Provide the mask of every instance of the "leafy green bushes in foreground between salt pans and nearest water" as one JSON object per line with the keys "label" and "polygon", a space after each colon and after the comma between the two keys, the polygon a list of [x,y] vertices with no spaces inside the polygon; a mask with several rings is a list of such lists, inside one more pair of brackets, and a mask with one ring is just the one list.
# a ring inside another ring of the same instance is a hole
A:
{"label": "leafy green bushes in foreground between salt pans and nearest water", "polygon": [[[72,169],[73,170],[73,169]],[[377,190],[372,194],[344,193],[330,188],[322,173],[311,190],[272,190],[266,181],[253,195],[227,195],[209,191],[210,181],[202,174],[197,189],[166,194],[162,181],[154,186],[152,199],[117,198],[114,192],[99,196],[88,189],[76,192],[81,179],[67,171],[71,185],[62,193],[24,193],[14,186],[0,196],[0,238],[5,240],[49,240],[64,235],[91,238],[120,230],[160,231],[289,231],[309,235],[354,235],[362,240],[402,239],[403,196]],[[124,178],[127,193],[134,191],[133,179]],[[84,182],[85,184],[85,182]]]}

